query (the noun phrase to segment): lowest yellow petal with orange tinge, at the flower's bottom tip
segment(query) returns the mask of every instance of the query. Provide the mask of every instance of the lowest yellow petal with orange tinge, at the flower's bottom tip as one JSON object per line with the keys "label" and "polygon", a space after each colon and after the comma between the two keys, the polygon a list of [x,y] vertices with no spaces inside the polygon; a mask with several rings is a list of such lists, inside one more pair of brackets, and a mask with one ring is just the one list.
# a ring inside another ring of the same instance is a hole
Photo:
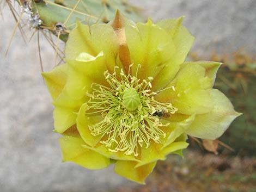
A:
{"label": "lowest yellow petal with orange tinge, at the flower's bottom tip", "polygon": [[128,160],[118,160],[115,163],[114,170],[115,172],[131,181],[137,183],[145,184],[145,178],[153,171],[156,166],[156,162],[152,162],[143,166],[135,168],[137,162],[128,161]]}

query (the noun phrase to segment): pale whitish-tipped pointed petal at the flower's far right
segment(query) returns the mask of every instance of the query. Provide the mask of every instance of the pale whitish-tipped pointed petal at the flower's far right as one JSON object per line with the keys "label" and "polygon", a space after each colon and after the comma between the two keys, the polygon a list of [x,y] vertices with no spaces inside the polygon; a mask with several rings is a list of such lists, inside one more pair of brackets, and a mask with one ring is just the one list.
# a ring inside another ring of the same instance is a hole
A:
{"label": "pale whitish-tipped pointed petal at the flower's far right", "polygon": [[210,94],[213,98],[214,109],[202,115],[197,115],[186,133],[202,139],[217,139],[229,127],[230,123],[240,113],[235,112],[229,99],[217,89],[212,89]]}

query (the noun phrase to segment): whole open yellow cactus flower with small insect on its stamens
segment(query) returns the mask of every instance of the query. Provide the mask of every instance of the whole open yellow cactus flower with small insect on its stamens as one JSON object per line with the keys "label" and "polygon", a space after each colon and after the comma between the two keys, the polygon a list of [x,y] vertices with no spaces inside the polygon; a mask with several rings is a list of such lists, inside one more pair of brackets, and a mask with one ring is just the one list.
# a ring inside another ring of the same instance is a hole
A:
{"label": "whole open yellow cactus flower with small insect on its stamens", "polygon": [[144,183],[157,160],[182,155],[187,135],[216,139],[240,114],[212,89],[220,63],[184,62],[194,41],[182,17],[77,26],[66,64],[42,73],[53,98],[63,161],[88,169],[114,163]]}

